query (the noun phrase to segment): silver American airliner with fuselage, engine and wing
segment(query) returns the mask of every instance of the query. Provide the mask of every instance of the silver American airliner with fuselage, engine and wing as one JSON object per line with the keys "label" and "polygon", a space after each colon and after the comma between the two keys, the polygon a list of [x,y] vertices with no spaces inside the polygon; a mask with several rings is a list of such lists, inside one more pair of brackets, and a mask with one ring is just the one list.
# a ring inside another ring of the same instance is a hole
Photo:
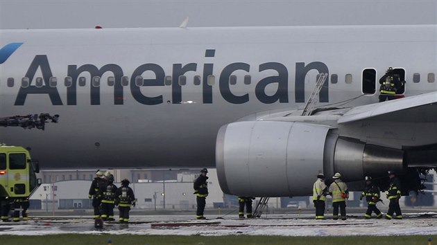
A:
{"label": "silver American airliner with fuselage, engine and wing", "polygon": [[[216,167],[223,192],[311,194],[437,165],[436,25],[0,30],[0,129],[42,168]],[[378,102],[392,66],[405,98]],[[301,116],[320,74],[317,109]]]}

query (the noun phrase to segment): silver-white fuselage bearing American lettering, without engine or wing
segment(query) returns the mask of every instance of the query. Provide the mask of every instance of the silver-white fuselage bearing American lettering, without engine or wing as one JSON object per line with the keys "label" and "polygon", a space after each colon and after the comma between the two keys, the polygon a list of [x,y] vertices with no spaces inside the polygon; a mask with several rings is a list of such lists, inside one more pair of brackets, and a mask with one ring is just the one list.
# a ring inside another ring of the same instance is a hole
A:
{"label": "silver-white fuselage bearing American lettering, without engine or wing", "polygon": [[[214,166],[221,125],[302,108],[322,72],[327,106],[377,102],[388,66],[405,70],[405,96],[437,84],[431,25],[0,30],[0,48],[11,43],[22,45],[0,64],[0,116],[60,123],[0,139],[50,168]],[[375,93],[363,95],[364,69]]]}

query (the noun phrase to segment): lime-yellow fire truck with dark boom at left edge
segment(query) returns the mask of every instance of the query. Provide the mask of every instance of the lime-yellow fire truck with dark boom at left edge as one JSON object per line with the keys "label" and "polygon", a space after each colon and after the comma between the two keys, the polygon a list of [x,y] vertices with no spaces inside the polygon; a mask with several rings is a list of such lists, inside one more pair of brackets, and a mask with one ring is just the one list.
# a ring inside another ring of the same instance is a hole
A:
{"label": "lime-yellow fire truck with dark boom at left edge", "polygon": [[[31,114],[0,118],[0,127],[42,129],[46,123],[58,123],[58,115]],[[17,199],[28,199],[41,184],[37,179],[40,165],[21,146],[0,145],[0,210]],[[3,213],[3,212],[1,212]]]}

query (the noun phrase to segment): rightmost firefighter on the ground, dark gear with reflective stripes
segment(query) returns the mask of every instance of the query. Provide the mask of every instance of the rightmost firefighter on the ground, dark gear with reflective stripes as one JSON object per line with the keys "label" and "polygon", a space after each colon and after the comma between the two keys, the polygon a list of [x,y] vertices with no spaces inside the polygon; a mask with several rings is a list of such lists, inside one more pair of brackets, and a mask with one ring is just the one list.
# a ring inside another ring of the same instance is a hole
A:
{"label": "rightmost firefighter on the ground, dark gear with reflective stripes", "polygon": [[390,187],[387,191],[387,199],[390,200],[390,203],[388,204],[386,219],[392,219],[394,213],[396,213],[395,219],[402,219],[402,212],[399,206],[401,183],[395,176],[394,171],[388,171],[388,177],[390,178]]}

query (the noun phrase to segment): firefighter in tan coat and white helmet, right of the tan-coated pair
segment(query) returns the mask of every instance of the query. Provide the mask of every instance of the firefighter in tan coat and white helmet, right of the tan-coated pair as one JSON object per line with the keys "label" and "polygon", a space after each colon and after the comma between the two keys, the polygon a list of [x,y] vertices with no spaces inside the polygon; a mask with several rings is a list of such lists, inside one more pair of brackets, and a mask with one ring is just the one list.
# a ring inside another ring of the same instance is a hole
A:
{"label": "firefighter in tan coat and white helmet, right of the tan-coated pair", "polygon": [[341,181],[341,174],[335,173],[332,177],[334,182],[329,185],[329,194],[332,196],[332,215],[333,219],[339,219],[339,208],[341,219],[346,220],[346,199],[348,199],[348,185]]}

